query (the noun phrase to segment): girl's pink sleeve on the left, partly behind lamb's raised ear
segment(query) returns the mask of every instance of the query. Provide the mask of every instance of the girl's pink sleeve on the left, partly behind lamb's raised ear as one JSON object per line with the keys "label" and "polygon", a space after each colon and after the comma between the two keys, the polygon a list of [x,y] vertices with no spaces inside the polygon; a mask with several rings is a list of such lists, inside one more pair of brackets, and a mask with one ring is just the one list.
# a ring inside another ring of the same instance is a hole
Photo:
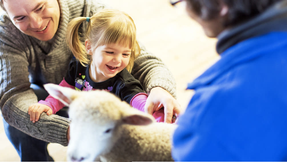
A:
{"label": "girl's pink sleeve on the left, partly behind lamb's raised ear", "polygon": [[[59,84],[59,86],[75,88],[71,86],[70,84],[68,84],[64,79]],[[56,112],[58,112],[60,109],[62,109],[65,106],[65,104],[63,104],[61,101],[57,100],[56,98],[52,97],[51,95],[49,95],[45,100],[40,100],[38,103],[49,106],[53,110],[53,114],[56,114]]]}

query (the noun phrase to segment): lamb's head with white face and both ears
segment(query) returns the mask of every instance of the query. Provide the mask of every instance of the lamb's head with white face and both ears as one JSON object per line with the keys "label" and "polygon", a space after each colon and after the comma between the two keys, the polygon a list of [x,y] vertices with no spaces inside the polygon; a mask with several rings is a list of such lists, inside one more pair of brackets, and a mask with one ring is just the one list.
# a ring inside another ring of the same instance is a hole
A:
{"label": "lamb's head with white face and both ears", "polygon": [[119,138],[122,124],[148,125],[154,118],[132,108],[110,92],[76,91],[45,84],[49,94],[69,106],[68,161],[94,161],[109,151]]}

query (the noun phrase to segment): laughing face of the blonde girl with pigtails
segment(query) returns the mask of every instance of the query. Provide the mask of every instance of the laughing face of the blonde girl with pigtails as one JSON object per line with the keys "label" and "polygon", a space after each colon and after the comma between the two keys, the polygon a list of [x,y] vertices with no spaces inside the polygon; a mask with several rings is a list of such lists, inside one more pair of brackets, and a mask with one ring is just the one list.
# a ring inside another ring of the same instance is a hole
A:
{"label": "laughing face of the blonde girl with pigtails", "polygon": [[102,82],[114,77],[129,63],[131,48],[120,44],[108,44],[93,49],[86,40],[86,50],[92,55],[90,77],[94,82]]}

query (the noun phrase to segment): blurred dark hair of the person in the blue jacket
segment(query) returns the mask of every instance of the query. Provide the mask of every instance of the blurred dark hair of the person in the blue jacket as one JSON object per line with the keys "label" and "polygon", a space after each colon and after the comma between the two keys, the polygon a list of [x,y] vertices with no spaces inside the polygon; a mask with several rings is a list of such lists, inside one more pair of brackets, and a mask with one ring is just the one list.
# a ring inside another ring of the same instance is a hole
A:
{"label": "blurred dark hair of the person in the blue jacket", "polygon": [[218,16],[222,3],[228,6],[228,20],[224,25],[234,25],[246,21],[265,11],[272,4],[281,0],[185,0],[189,10],[203,20]]}

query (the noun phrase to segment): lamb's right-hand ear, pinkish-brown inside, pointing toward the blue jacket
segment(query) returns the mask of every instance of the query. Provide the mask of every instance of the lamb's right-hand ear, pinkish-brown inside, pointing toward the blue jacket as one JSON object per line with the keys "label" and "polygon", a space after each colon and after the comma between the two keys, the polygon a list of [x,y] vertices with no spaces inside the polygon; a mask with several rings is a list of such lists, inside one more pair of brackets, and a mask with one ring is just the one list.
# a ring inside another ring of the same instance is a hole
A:
{"label": "lamb's right-hand ear, pinkish-brown inside, pointing toward the blue jacket", "polygon": [[131,124],[131,125],[149,125],[153,122],[153,120],[144,115],[129,115],[125,116],[122,119],[124,124]]}

